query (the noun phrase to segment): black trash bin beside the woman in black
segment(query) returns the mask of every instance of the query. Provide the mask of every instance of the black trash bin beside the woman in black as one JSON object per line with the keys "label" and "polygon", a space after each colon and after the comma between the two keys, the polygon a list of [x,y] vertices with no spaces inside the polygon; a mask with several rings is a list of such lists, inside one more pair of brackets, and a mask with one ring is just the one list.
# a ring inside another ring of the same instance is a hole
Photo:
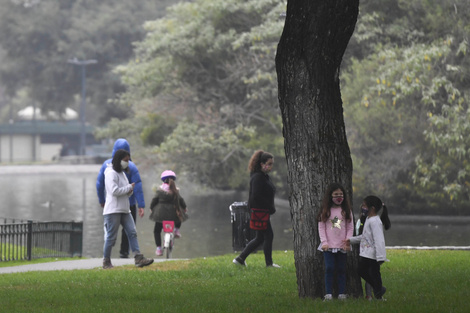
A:
{"label": "black trash bin beside the woman in black", "polygon": [[247,202],[234,202],[229,209],[232,220],[233,251],[242,251],[256,236],[256,231],[250,228],[250,209]]}

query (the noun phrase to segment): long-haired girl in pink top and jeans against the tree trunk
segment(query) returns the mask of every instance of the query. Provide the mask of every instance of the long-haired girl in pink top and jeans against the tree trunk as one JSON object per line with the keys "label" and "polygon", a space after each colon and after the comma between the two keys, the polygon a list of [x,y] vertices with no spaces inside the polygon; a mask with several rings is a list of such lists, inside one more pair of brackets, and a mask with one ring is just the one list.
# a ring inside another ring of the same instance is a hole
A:
{"label": "long-haired girl in pink top and jeans against the tree trunk", "polygon": [[346,252],[350,246],[344,241],[354,232],[353,215],[349,198],[340,184],[328,186],[322,202],[322,210],[318,214],[318,233],[320,246],[325,258],[325,289],[324,300],[333,298],[333,278],[335,271],[338,279],[338,299],[346,299]]}

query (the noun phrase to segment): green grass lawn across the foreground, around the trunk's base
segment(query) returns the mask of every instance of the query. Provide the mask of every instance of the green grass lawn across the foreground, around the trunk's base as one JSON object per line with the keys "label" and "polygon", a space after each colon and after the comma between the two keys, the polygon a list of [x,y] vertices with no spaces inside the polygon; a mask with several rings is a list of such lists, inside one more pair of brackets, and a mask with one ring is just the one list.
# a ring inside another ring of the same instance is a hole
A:
{"label": "green grass lawn across the foreground, around the trunk's base", "polygon": [[281,269],[248,267],[234,255],[171,261],[138,269],[0,275],[1,312],[468,312],[468,251],[388,252],[388,301],[299,299],[293,253],[275,252]]}

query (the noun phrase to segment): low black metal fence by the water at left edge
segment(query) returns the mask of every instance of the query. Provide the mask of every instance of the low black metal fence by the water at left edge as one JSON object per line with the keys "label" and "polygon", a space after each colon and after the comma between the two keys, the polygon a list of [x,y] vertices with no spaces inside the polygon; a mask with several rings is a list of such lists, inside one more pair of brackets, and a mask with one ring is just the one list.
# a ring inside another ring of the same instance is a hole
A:
{"label": "low black metal fence by the water at left edge", "polygon": [[3,218],[0,220],[0,261],[81,257],[82,238],[83,222]]}

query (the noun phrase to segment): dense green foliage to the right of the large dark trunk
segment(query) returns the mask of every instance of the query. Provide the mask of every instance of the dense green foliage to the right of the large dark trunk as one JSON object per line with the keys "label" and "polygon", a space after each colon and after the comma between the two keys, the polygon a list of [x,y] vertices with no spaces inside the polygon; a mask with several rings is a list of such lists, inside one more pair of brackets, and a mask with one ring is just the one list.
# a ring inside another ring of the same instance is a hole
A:
{"label": "dense green foliage to the right of the large dark trunk", "polygon": [[469,22],[460,0],[361,6],[342,72],[358,197],[380,194],[395,213],[468,213],[456,151],[468,150]]}

